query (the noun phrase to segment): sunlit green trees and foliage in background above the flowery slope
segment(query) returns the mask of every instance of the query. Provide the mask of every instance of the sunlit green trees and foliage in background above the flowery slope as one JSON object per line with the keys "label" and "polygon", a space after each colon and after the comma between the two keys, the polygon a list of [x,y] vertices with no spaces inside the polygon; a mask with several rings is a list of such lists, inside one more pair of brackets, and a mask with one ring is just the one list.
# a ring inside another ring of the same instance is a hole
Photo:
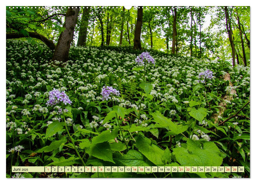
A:
{"label": "sunlit green trees and foliage in background above the flowery slope", "polygon": [[[16,35],[32,41],[29,37],[33,37],[54,49],[65,30],[67,9],[7,6],[7,38]],[[79,41],[80,46],[133,46],[137,12],[138,7],[129,10],[121,6],[80,7],[71,45]],[[144,6],[141,46],[148,51],[155,49],[248,65],[250,7]]]}

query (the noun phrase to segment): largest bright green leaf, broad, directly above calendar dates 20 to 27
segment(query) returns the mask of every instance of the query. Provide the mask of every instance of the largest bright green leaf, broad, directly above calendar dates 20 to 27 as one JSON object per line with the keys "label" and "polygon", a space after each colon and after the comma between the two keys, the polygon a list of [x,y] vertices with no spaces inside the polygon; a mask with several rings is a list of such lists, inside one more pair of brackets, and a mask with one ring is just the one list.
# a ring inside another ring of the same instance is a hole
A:
{"label": "largest bright green leaf, broad, directly above calendar dates 20 to 27", "polygon": [[187,149],[177,147],[172,152],[181,166],[220,166],[222,158],[218,147],[213,142],[187,139]]}

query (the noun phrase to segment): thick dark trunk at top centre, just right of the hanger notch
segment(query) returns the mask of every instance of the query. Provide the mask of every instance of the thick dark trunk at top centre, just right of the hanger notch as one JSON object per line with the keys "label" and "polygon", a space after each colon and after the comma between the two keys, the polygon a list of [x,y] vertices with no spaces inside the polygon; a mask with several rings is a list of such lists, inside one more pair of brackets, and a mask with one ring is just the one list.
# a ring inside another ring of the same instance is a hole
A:
{"label": "thick dark trunk at top centre, just right of the hanger notch", "polygon": [[143,9],[142,6],[138,7],[137,22],[134,32],[133,48],[142,49],[141,47],[141,27],[142,27]]}

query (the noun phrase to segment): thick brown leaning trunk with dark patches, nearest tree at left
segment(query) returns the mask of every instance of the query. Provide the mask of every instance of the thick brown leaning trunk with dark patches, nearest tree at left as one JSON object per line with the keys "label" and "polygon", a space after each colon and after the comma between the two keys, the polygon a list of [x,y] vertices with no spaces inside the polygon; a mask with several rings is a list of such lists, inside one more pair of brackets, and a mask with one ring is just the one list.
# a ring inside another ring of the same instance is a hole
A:
{"label": "thick brown leaning trunk with dark patches, nearest tree at left", "polygon": [[73,40],[74,29],[76,26],[78,14],[79,7],[70,7],[69,9],[67,9],[65,23],[63,25],[63,28],[65,28],[65,30],[60,34],[52,60],[63,62],[66,62],[68,60],[69,48]]}

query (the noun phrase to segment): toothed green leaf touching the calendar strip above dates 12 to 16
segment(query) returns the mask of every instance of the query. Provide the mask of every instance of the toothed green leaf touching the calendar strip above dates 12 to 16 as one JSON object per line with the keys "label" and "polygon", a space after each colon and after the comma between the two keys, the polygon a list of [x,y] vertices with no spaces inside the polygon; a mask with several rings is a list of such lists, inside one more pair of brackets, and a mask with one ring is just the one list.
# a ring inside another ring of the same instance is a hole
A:
{"label": "toothed green leaf touching the calendar strip above dates 12 to 16", "polygon": [[130,150],[124,156],[114,158],[114,160],[125,166],[154,166],[152,162],[136,150]]}

